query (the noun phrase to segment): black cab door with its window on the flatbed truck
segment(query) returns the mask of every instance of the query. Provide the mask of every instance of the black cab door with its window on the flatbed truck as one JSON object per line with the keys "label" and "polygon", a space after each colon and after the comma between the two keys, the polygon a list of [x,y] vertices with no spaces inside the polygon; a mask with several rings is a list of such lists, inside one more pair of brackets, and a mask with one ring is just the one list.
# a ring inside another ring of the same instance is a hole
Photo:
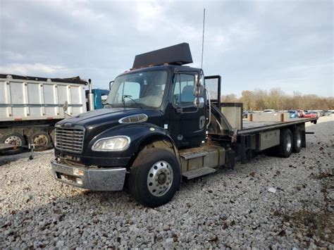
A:
{"label": "black cab door with its window on the flatbed truck", "polygon": [[[206,137],[205,105],[194,106],[194,88],[198,73],[175,74],[172,103],[174,107],[173,139],[179,146],[199,146]],[[203,91],[201,96],[203,95]]]}

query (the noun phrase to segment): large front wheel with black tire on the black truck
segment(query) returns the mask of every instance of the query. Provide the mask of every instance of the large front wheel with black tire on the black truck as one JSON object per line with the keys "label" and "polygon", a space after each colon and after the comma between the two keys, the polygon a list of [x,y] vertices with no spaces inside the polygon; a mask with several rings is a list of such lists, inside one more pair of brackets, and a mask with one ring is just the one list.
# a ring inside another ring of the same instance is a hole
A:
{"label": "large front wheel with black tire on the black truck", "polygon": [[180,166],[171,151],[144,149],[132,164],[129,190],[140,204],[154,208],[171,201],[180,178]]}

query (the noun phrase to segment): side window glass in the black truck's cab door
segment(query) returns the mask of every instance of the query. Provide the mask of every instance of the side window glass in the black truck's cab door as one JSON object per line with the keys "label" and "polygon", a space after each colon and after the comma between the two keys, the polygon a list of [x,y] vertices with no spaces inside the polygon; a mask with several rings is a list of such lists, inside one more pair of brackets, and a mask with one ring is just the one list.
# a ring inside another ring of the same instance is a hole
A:
{"label": "side window glass in the black truck's cab door", "polygon": [[194,101],[195,77],[190,74],[178,74],[175,78],[173,104],[189,104]]}

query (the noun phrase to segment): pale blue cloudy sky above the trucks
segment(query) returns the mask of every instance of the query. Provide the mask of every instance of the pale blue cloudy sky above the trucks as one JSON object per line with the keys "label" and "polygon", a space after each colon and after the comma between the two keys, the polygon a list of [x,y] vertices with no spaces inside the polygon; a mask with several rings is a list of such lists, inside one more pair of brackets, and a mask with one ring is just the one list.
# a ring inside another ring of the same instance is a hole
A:
{"label": "pale blue cloudy sky above the trucks", "polygon": [[187,42],[222,94],[334,96],[333,1],[0,0],[0,73],[109,81],[135,55]]}

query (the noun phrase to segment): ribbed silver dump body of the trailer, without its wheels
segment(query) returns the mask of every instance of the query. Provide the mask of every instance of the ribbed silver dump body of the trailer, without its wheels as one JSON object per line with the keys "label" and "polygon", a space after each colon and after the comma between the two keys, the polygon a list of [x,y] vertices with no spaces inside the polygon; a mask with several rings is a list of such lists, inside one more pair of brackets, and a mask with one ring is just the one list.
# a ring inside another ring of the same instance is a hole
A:
{"label": "ribbed silver dump body of the trailer, without its wheels", "polygon": [[85,82],[0,75],[0,121],[61,120],[86,112]]}

